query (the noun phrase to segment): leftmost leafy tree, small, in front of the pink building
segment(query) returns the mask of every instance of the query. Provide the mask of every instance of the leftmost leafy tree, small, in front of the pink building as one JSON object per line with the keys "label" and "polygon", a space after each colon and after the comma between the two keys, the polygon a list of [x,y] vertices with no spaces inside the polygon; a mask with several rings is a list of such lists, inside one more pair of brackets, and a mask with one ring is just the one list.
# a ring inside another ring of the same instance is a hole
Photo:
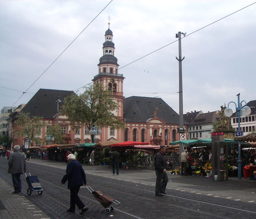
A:
{"label": "leftmost leafy tree, small, in front of the pink building", "polygon": [[29,113],[21,112],[14,123],[15,135],[32,140],[29,142],[29,146],[32,146],[33,142],[41,143],[38,136],[43,126],[42,117],[30,117]]}

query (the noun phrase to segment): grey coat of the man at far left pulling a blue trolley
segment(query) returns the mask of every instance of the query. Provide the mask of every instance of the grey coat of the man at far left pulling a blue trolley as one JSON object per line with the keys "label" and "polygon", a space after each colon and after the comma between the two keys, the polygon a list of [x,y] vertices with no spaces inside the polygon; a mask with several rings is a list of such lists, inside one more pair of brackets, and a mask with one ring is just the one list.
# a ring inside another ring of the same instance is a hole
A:
{"label": "grey coat of the man at far left pulling a blue trolley", "polygon": [[26,171],[26,161],[25,156],[20,151],[15,151],[10,154],[10,158],[8,160],[8,173],[15,174]]}

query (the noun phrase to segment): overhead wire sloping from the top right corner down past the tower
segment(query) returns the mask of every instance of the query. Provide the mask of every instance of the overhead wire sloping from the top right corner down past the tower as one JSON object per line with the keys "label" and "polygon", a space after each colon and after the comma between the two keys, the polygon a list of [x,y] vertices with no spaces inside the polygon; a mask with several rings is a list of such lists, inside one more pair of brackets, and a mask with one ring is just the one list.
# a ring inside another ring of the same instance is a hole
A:
{"label": "overhead wire sloping from the top right corner down past the tower", "polygon": [[[225,17],[223,17],[223,18],[221,18],[221,19],[218,19],[218,20],[216,20],[216,21],[214,21],[214,22],[212,22],[212,23],[210,23],[210,24],[208,24],[208,25],[206,25],[206,26],[204,26],[204,27],[201,27],[200,29],[193,31],[193,32],[190,33],[190,34],[187,34],[186,37],[188,37],[189,35],[191,35],[191,34],[193,34],[193,33],[196,33],[196,32],[199,31],[199,30],[202,30],[202,29],[204,29],[204,28],[210,26],[211,24],[214,24],[214,23],[216,23],[216,22],[218,22],[218,21],[220,21],[220,20],[222,20],[222,19],[224,19],[224,18],[227,18],[227,17],[230,16],[230,15],[233,15],[233,14],[237,13],[238,11],[241,11],[241,10],[243,10],[243,9],[245,9],[245,8],[248,8],[249,6],[251,6],[251,5],[255,4],[255,3],[256,3],[256,2],[254,2],[254,3],[250,4],[250,5],[247,5],[247,6],[245,6],[244,8],[241,8],[241,9],[239,9],[239,10],[237,10],[237,11],[235,11],[235,12],[229,14],[229,15],[226,15]],[[184,37],[181,37],[181,39],[182,39],[182,38],[184,38]],[[178,41],[178,39],[175,40],[175,41],[173,41],[173,42],[171,42],[171,43],[169,43],[169,44],[167,44],[167,45],[165,45],[165,46],[162,46],[162,47],[159,48],[159,49],[154,50],[153,52],[150,52],[150,53],[146,54],[145,56],[142,56],[142,57],[140,57],[140,58],[138,58],[138,59],[132,61],[131,63],[128,63],[128,64],[122,66],[121,68],[127,67],[128,65],[130,65],[130,64],[132,64],[132,63],[135,63],[136,61],[139,61],[140,59],[145,58],[146,56],[149,56],[150,54],[153,54],[153,53],[157,52],[158,50],[161,50],[161,49],[165,48],[166,46],[169,46],[169,45],[171,45],[171,44],[173,44],[174,42],[177,42],[177,41]],[[121,68],[118,68],[118,70],[120,70]],[[115,71],[117,71],[117,70],[115,70]],[[108,74],[106,74],[106,75],[109,75],[109,74],[110,74],[110,73],[108,73]],[[76,91],[76,90],[79,90],[80,88],[86,87],[87,85],[89,85],[89,84],[91,84],[91,83],[93,83],[93,82],[90,82],[90,83],[88,83],[88,84],[85,84],[84,86],[79,87],[79,88],[77,88],[77,89],[75,89],[75,90],[73,90],[73,91]]]}

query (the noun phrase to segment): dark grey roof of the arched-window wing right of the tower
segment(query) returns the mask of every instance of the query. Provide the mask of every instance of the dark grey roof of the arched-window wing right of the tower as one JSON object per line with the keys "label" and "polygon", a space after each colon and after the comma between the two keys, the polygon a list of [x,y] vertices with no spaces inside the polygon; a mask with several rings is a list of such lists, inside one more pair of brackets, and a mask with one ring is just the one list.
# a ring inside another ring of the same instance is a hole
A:
{"label": "dark grey roof of the arched-window wing right of the tower", "polygon": [[[127,97],[124,98],[123,115],[126,122],[146,122],[154,118],[157,107],[157,118],[169,124],[179,124],[179,115],[161,98],[153,97]],[[184,124],[188,124],[184,121]]]}

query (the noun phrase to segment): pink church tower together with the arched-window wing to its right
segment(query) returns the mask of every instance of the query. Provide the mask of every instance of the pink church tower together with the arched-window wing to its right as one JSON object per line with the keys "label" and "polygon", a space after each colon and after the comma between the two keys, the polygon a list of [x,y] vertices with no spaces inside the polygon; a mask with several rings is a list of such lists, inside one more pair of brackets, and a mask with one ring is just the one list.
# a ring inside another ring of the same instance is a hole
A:
{"label": "pink church tower together with the arched-window wing to its right", "polygon": [[[179,140],[179,115],[161,98],[123,96],[124,76],[118,73],[117,58],[114,56],[113,33],[105,32],[103,56],[99,59],[98,74],[93,82],[107,87],[117,103],[116,116],[126,122],[125,130],[102,129],[102,136],[97,140],[116,139],[120,141],[141,141],[150,144],[168,145]],[[187,129],[187,122],[184,123]],[[88,141],[88,140],[87,140]]]}

